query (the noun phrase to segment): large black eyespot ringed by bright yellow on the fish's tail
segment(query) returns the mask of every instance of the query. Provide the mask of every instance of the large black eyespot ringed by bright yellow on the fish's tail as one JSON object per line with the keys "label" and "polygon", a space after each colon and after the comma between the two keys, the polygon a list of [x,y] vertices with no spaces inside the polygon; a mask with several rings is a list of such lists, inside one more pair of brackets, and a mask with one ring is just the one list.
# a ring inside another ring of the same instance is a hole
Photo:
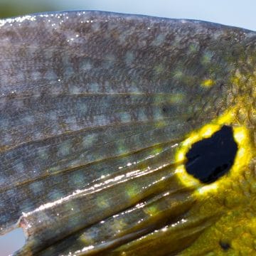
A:
{"label": "large black eyespot ringed by bright yellow on the fish's tail", "polygon": [[191,146],[186,171],[203,183],[212,183],[230,170],[237,151],[233,129],[224,125],[212,137]]}

